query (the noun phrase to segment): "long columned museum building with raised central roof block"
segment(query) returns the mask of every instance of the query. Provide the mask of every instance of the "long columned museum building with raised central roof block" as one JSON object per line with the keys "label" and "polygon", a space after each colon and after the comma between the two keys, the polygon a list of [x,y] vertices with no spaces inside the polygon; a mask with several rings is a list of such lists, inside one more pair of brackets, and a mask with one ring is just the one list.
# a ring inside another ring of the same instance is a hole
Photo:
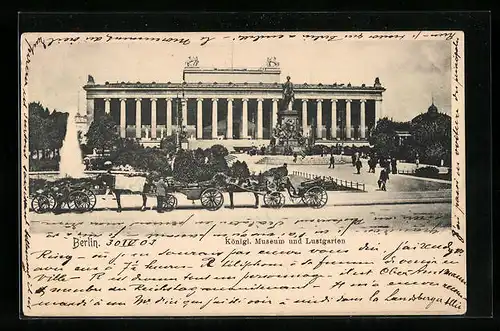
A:
{"label": "long columned museum building with raised central roof block", "polygon": [[[300,130],[317,143],[366,144],[383,116],[378,78],[371,85],[294,82],[293,108]],[[86,114],[77,123],[88,129],[108,113],[120,136],[158,145],[182,126],[190,147],[267,145],[278,121],[282,85],[279,63],[268,59],[260,68],[203,68],[188,61],[182,82],[105,82],[89,75]],[[179,115],[178,115],[179,114]]]}

